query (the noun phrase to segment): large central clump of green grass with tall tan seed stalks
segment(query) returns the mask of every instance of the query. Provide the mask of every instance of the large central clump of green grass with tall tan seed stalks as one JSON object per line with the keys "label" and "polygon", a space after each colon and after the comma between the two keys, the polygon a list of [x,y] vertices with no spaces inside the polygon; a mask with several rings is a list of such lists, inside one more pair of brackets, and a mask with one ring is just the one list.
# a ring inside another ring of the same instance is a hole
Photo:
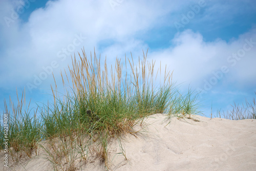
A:
{"label": "large central clump of green grass with tall tan seed stalks", "polygon": [[[104,61],[96,57],[88,58],[82,51],[74,56],[72,67],[69,67],[70,77],[62,77],[62,84],[72,84],[71,91],[67,91],[60,100],[52,88],[54,103],[42,108],[42,120],[45,137],[74,137],[85,134],[90,140],[87,143],[88,153],[95,154],[108,168],[108,143],[113,138],[119,138],[126,133],[136,134],[134,125],[143,122],[143,118],[157,112],[166,111],[169,92],[172,89],[172,74],[166,73],[167,85],[154,88],[154,62],[139,60],[134,65],[133,58],[129,61],[132,73],[127,73],[121,59],[116,59],[115,67],[111,69]],[[67,73],[65,71],[65,73]],[[125,77],[122,77],[122,74]],[[128,78],[130,77],[130,78]],[[55,82],[56,84],[56,82]],[[82,142],[80,140],[79,142]],[[95,145],[97,144],[97,145]],[[81,145],[79,145],[81,146]],[[54,160],[54,163],[60,161]]]}

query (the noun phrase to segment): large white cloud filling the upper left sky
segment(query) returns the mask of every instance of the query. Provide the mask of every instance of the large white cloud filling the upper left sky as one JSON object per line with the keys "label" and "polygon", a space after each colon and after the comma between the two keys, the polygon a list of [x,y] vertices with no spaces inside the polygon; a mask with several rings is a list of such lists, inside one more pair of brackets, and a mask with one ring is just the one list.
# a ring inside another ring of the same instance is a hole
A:
{"label": "large white cloud filling the upper left sky", "polygon": [[[9,10],[15,9],[11,3],[4,6]],[[90,52],[95,46],[97,49],[101,40],[108,39],[131,47],[129,51],[133,51],[133,45],[140,41],[135,40],[134,35],[137,31],[153,27],[158,18],[167,12],[166,9],[161,10],[163,6],[163,3],[124,1],[113,10],[108,1],[49,1],[44,9],[39,8],[31,13],[28,23],[21,23],[18,18],[10,23],[9,28],[5,25],[2,28],[2,44],[6,48],[0,60],[8,65],[0,69],[1,78],[8,84],[26,83],[28,78],[40,74],[42,67],[58,60],[57,53],[63,48],[67,49],[75,35],[81,34],[87,39],[70,51],[72,54],[83,46],[86,52]],[[124,54],[127,50],[120,49],[119,46],[108,55]],[[59,68],[55,73],[70,63],[70,55],[67,58],[69,60],[58,61]]]}

